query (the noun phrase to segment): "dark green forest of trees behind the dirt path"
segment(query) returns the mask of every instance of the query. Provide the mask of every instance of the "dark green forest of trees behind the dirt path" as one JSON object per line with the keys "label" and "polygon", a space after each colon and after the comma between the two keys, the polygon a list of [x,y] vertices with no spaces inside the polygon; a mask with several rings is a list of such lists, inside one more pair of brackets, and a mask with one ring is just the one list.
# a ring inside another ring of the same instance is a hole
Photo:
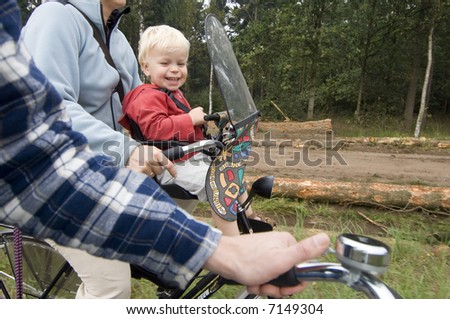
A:
{"label": "dark green forest of trees behind the dirt path", "polygon": [[[41,1],[19,0],[23,20]],[[128,0],[121,22],[137,52],[148,26],[169,24],[191,42],[191,105],[223,110],[210,92],[204,18],[227,25],[263,120],[347,118],[350,125],[389,123],[420,134],[450,121],[448,0]],[[419,121],[417,118],[419,116]],[[419,130],[419,131],[418,131]]]}

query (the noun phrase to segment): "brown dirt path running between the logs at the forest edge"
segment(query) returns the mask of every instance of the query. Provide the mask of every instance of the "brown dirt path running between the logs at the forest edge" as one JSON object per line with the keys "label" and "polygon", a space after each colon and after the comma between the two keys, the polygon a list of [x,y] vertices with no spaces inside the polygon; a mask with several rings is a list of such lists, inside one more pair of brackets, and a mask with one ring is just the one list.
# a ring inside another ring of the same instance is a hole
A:
{"label": "brown dirt path running between the logs at the forest edge", "polygon": [[[278,123],[265,124],[265,128],[271,129],[274,139],[298,138],[292,123],[284,125],[290,130],[280,129]],[[450,187],[450,150],[350,145],[333,152],[276,145],[254,147],[253,151],[248,175]]]}

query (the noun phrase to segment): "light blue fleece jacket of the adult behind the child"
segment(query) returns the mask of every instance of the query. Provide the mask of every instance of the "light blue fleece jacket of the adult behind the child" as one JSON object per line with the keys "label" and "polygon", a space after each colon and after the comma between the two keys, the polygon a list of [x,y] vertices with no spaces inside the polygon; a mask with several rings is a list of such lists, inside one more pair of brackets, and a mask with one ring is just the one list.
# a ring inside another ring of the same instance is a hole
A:
{"label": "light blue fleece jacket of the adult behind the child", "polygon": [[[124,93],[141,84],[136,57],[117,28],[121,15],[107,35],[99,0],[69,2],[100,30],[122,78]],[[119,96],[114,93],[119,73],[106,61],[87,20],[72,5],[48,2],[35,9],[22,37],[37,67],[62,96],[73,129],[87,137],[94,152],[109,155],[124,166],[138,143],[125,136],[117,123],[122,114]]]}

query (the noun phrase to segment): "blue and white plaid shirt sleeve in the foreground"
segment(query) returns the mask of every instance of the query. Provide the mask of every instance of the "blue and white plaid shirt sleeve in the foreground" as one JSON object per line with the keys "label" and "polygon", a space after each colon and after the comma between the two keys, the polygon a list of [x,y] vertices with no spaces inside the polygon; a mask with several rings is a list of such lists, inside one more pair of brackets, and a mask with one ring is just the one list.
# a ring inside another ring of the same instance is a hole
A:
{"label": "blue and white plaid shirt sleeve in the foreground", "polygon": [[0,3],[0,221],[39,238],[150,269],[184,286],[220,233],[150,178],[108,165],[71,130],[62,100],[19,41],[15,0]]}

